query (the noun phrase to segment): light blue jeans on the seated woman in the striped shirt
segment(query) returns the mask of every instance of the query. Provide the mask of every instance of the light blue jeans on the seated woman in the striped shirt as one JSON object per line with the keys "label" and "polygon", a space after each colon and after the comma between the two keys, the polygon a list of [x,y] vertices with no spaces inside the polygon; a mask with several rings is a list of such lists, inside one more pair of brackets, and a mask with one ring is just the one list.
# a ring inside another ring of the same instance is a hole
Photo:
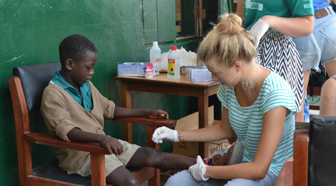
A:
{"label": "light blue jeans on the seated woman in the striped shirt", "polygon": [[[268,171],[265,178],[262,180],[249,180],[243,178],[232,179],[228,181],[225,186],[273,186],[278,177],[272,172]],[[222,184],[218,184],[216,179],[210,178],[207,181],[197,181],[194,179],[193,175],[190,174],[189,171],[184,170],[181,171],[174,176],[170,177],[165,186],[222,186]]]}

